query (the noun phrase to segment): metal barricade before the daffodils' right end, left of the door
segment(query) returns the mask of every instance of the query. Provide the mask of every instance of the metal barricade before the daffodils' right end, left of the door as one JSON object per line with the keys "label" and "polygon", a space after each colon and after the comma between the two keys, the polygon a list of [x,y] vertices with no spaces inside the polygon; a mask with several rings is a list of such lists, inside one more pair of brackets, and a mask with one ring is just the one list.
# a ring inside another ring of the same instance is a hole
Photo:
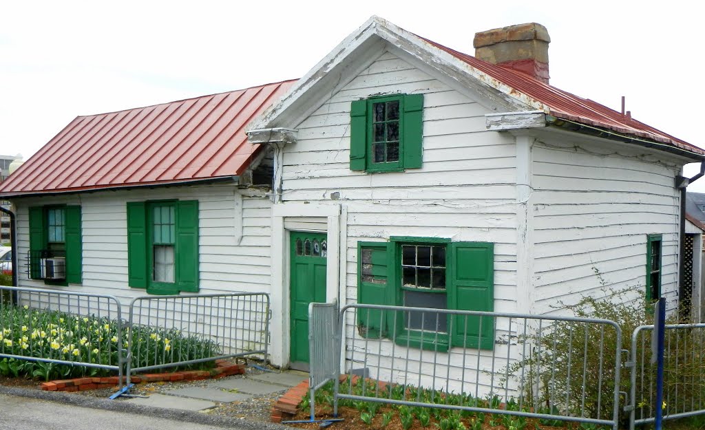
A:
{"label": "metal barricade before the daffodils' right end, left of the door", "polygon": [[128,384],[137,371],[259,355],[266,361],[269,294],[136,297],[130,302]]}

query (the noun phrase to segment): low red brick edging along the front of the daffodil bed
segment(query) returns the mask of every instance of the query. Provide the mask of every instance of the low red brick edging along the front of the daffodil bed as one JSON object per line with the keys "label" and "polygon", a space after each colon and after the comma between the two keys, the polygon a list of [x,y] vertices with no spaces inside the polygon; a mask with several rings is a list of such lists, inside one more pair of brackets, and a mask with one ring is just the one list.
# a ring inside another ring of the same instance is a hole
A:
{"label": "low red brick edging along the front of the daffodil bed", "polygon": [[[223,376],[245,374],[245,364],[236,364],[227,360],[216,360],[216,368],[210,370],[184,370],[173,371],[162,374],[143,374],[130,376],[131,383],[159,382],[159,381],[197,381],[199,379],[222,378]],[[126,381],[123,376],[123,382]],[[42,382],[41,388],[44,391],[85,391],[99,388],[113,388],[120,383],[118,376],[106,376],[102,378],[73,378],[60,379],[50,382]]]}

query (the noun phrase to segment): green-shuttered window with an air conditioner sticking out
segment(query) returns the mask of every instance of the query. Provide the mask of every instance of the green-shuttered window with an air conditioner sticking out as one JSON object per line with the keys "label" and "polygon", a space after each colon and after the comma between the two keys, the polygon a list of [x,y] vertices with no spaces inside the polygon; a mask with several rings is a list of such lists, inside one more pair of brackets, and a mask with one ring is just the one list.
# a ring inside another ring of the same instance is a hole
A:
{"label": "green-shuttered window with an air conditioner sticking out", "polygon": [[50,285],[81,283],[80,206],[30,207],[28,274]]}

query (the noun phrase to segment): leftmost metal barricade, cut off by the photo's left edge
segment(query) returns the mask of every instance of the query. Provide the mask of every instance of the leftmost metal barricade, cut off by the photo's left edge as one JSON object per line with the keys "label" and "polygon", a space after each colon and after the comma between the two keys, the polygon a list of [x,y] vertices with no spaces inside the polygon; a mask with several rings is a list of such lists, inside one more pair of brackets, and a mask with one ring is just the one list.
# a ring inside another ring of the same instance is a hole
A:
{"label": "leftmost metal barricade, cut off by the photo's left edge", "polygon": [[0,357],[116,371],[122,386],[123,327],[114,296],[0,286]]}

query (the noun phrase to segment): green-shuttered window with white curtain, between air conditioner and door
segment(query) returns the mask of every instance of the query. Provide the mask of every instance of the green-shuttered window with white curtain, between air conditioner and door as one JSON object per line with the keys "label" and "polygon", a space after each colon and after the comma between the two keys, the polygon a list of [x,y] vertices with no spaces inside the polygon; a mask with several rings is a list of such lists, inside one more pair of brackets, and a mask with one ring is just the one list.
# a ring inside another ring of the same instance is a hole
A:
{"label": "green-shuttered window with white curtain, between air conditioner and door", "polygon": [[128,281],[150,294],[198,291],[198,202],[130,202]]}

